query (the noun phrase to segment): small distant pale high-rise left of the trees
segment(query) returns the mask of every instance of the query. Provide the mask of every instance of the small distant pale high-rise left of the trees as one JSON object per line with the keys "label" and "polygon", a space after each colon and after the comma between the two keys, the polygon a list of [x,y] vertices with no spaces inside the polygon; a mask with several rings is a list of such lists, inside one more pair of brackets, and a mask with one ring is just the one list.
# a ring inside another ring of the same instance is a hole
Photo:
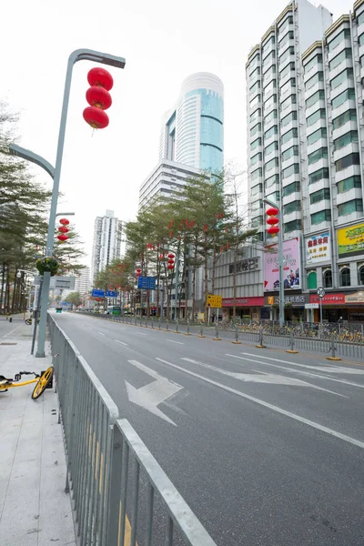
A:
{"label": "small distant pale high-rise left of the trees", "polygon": [[123,222],[114,217],[113,210],[106,210],[104,217],[96,217],[92,248],[91,282],[97,273],[113,259],[120,258]]}

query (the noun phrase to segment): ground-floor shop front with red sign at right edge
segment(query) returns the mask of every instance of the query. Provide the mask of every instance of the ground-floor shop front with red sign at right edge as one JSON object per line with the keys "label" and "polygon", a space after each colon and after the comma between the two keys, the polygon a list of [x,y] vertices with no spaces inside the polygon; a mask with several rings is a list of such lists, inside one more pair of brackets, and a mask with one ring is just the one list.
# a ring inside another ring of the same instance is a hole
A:
{"label": "ground-floor shop front with red sign at right edge", "polygon": [[[317,294],[310,294],[309,303],[320,304]],[[319,308],[314,309],[314,320],[319,322]],[[364,291],[330,292],[322,298],[322,319],[324,322],[364,323]]]}

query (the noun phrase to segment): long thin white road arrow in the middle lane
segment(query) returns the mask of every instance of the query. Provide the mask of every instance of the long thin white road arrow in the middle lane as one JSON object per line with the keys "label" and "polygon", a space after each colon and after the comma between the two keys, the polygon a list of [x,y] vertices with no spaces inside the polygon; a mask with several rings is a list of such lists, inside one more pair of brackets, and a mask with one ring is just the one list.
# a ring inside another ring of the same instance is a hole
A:
{"label": "long thin white road arrow in the middle lane", "polygon": [[[227,357],[234,357],[234,355],[227,355]],[[241,357],[237,357],[240,359]],[[210,364],[205,364],[204,362],[198,362],[197,360],[193,359],[181,359],[181,360],[187,360],[187,362],[192,362],[192,364],[198,364],[199,366],[203,366],[207,369],[213,369],[215,371],[218,371],[219,373],[222,373],[224,375],[229,376],[230,378],[239,379],[240,381],[247,381],[250,383],[269,383],[271,385],[289,385],[291,387],[310,387],[311,389],[318,389],[318,390],[325,390],[326,392],[329,392],[330,394],[336,394],[337,396],[341,396],[343,398],[348,398],[347,396],[344,396],[343,394],[339,394],[338,392],[334,392],[333,390],[323,389],[322,387],[317,387],[316,385],[312,385],[311,383],[307,383],[306,381],[301,381],[301,379],[294,379],[294,378],[288,378],[286,376],[279,376],[277,374],[270,374],[266,371],[259,371],[258,369],[253,369],[256,373],[239,373],[235,371],[227,371],[227,369],[221,369],[216,368],[215,366],[211,366]],[[258,375],[262,374],[262,375]]]}

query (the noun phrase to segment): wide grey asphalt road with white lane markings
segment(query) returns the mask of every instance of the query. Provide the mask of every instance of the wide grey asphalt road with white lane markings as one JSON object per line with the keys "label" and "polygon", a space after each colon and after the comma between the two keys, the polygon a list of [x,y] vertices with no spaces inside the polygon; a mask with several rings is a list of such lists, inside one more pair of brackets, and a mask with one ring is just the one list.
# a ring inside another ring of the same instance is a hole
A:
{"label": "wide grey asphalt road with white lane markings", "polygon": [[363,546],[364,365],[55,317],[218,546]]}

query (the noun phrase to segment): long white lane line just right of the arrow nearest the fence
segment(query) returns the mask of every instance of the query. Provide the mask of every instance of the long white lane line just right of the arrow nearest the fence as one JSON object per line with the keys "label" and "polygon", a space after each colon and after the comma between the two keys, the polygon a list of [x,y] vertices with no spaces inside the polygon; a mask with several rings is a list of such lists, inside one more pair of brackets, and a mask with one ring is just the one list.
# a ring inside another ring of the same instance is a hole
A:
{"label": "long white lane line just right of the arrow nearest the fence", "polygon": [[364,450],[363,441],[356,440],[355,438],[351,438],[350,436],[347,436],[346,434],[341,434],[341,432],[338,432],[337,430],[332,430],[332,429],[329,429],[328,427],[324,427],[323,425],[320,425],[319,423],[315,421],[305,419],[304,417],[300,417],[299,415],[296,415],[296,413],[292,413],[291,411],[282,410],[282,408],[278,408],[278,406],[273,406],[273,404],[269,404],[268,402],[265,402],[264,400],[245,394],[244,392],[241,392],[240,390],[231,389],[231,387],[227,387],[227,385],[223,385],[222,383],[217,383],[217,381],[214,381],[213,379],[207,379],[205,376],[201,376],[198,373],[194,373],[193,371],[189,371],[188,369],[182,368],[181,366],[177,366],[177,364],[172,364],[172,362],[168,362],[167,360],[157,359],[157,358],[156,360],[158,360],[159,362],[163,362],[163,364],[167,364],[167,366],[171,366],[172,368],[179,369],[183,373],[187,373],[188,375],[191,375],[197,379],[202,379],[203,381],[210,383],[210,385],[215,385],[215,387],[218,387],[219,389],[224,389],[224,390],[227,390],[228,392],[232,392],[233,394],[236,394],[237,396],[240,396],[241,398],[250,400],[251,402],[255,402],[259,406],[264,406],[265,408],[268,408],[268,410],[276,411],[277,413],[280,413],[281,415],[285,415],[286,417],[289,417],[290,419],[298,420],[299,422],[304,423],[305,425],[308,425],[308,427],[321,430],[321,432],[326,432],[330,436],[334,436],[335,438],[339,438],[340,440],[347,441],[350,444],[353,444],[354,446],[357,446],[358,448],[361,448],[362,450]]}

